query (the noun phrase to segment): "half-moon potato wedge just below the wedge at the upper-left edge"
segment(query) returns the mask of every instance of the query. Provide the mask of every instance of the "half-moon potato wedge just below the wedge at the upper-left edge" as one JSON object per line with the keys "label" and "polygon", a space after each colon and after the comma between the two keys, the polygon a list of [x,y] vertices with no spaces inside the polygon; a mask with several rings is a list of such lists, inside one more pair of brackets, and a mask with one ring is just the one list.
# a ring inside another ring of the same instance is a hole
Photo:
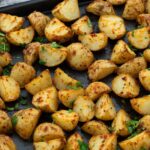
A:
{"label": "half-moon potato wedge just below the wedge at the upper-left edge", "polygon": [[29,26],[18,31],[9,32],[6,34],[7,40],[14,45],[26,45],[32,42],[34,37],[34,29]]}

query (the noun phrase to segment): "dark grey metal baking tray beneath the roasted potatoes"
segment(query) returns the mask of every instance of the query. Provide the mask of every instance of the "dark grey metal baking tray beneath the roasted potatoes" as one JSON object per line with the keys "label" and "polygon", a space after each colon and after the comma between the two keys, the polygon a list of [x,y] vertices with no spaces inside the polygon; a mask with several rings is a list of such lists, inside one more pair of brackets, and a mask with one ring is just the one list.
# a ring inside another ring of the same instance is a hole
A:
{"label": "dark grey metal baking tray beneath the roasted potatoes", "polygon": [[[9,7],[0,8],[0,12],[10,13],[10,14],[19,15],[19,16],[27,16],[32,11],[37,10],[37,11],[41,11],[41,12],[51,16],[50,10],[59,2],[60,2],[60,0],[57,0],[57,1],[56,0],[33,0],[33,1],[26,2],[26,3],[21,3],[21,4],[12,5]],[[88,15],[94,26],[94,32],[99,32],[99,30],[98,30],[99,17],[95,16],[93,14],[87,13],[85,11],[85,6],[87,6],[87,4],[89,4],[89,3],[90,3],[89,0],[79,0],[81,16]],[[124,5],[114,7],[114,8],[115,8],[116,14],[120,16],[122,14]],[[126,24],[127,31],[137,28],[137,24],[135,21],[125,21],[125,24]],[[28,26],[28,25],[29,25],[29,22],[26,21],[24,26]],[[70,23],[67,23],[67,25],[70,25]],[[126,37],[124,37],[123,39],[127,42]],[[75,37],[72,40],[72,42],[73,41],[77,41],[77,38]],[[104,50],[99,51],[99,52],[94,52],[95,59],[110,59],[111,52],[112,52],[112,49],[113,49],[115,43],[116,43],[116,41],[109,40],[108,45]],[[67,44],[69,44],[69,43],[66,43],[64,45],[67,45]],[[22,50],[23,50],[22,47],[15,47],[15,46],[11,47],[11,54],[13,56],[13,64],[15,64],[18,61],[23,61]],[[139,52],[137,55],[141,55],[141,53]],[[39,66],[38,63],[35,64],[34,67],[37,70],[37,74],[39,74],[42,70],[47,68],[44,66]],[[66,62],[59,65],[58,67],[62,68],[71,77],[81,81],[81,83],[83,84],[84,87],[86,87],[90,83],[90,81],[88,80],[87,71],[82,71],[82,72],[74,71],[66,64]],[[52,77],[53,77],[54,70],[56,68],[57,67],[49,68]],[[115,74],[112,74],[101,81],[105,82],[107,85],[111,86],[111,80],[113,79],[114,76],[115,76]],[[145,94],[148,94],[148,93],[146,91],[144,91],[143,88],[141,88],[140,96],[145,95]],[[31,95],[29,95],[24,90],[22,90],[21,95],[25,96],[26,99],[28,100],[28,102],[31,104],[31,100],[32,100]],[[123,98],[117,97],[112,92],[110,95],[113,99],[113,102],[114,102],[117,110],[119,110],[120,108],[123,108],[130,114],[131,118],[139,117],[138,114],[136,114],[131,109],[129,100],[127,100],[127,99],[124,100]],[[10,105],[14,105],[14,104],[10,104]],[[21,106],[20,109],[22,109],[22,108],[24,108],[24,107]],[[61,104],[60,104],[60,108],[67,109],[64,106],[62,106]],[[10,115],[12,115],[13,113],[14,112],[9,112]],[[43,113],[39,120],[39,123],[46,122],[46,121],[52,122],[51,115]],[[108,126],[110,126],[110,124],[111,124],[111,122],[105,122],[105,123]],[[78,131],[84,137],[84,140],[86,142],[88,142],[88,139],[90,136],[80,130],[81,125],[82,125],[82,123],[79,123],[78,127],[74,131],[72,131],[70,133],[66,133],[66,136],[74,133],[75,131]],[[17,150],[32,150],[33,149],[32,137],[31,137],[31,140],[28,140],[28,141],[22,140],[15,133],[12,134],[11,137],[13,138],[15,144],[17,145]],[[118,140],[120,140],[120,139],[118,139]]]}

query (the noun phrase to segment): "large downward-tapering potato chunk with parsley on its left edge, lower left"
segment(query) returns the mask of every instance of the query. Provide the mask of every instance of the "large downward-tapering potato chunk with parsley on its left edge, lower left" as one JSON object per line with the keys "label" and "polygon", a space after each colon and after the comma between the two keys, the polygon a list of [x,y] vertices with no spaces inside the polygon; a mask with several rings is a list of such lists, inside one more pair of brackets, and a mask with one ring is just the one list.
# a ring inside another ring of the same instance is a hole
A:
{"label": "large downward-tapering potato chunk with parsley on its left edge, lower left", "polygon": [[35,108],[22,109],[12,116],[12,124],[17,134],[24,140],[31,137],[41,111]]}

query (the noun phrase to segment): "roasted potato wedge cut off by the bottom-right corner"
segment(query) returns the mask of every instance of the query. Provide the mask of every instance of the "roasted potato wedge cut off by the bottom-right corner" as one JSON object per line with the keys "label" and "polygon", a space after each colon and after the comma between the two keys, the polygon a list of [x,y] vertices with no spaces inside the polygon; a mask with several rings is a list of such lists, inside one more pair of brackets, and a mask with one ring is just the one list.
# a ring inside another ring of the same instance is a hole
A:
{"label": "roasted potato wedge cut off by the bottom-right corner", "polygon": [[119,143],[122,150],[148,150],[150,148],[150,132],[143,131],[131,139]]}

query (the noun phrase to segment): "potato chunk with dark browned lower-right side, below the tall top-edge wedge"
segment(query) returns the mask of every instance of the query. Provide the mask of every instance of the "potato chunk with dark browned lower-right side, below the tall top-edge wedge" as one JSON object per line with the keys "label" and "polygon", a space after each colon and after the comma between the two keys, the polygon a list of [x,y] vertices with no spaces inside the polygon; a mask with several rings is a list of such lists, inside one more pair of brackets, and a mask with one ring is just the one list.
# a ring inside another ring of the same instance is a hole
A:
{"label": "potato chunk with dark browned lower-right side, below the tall top-edge wedge", "polygon": [[63,43],[72,38],[73,32],[63,22],[53,18],[45,27],[45,36],[49,41]]}

